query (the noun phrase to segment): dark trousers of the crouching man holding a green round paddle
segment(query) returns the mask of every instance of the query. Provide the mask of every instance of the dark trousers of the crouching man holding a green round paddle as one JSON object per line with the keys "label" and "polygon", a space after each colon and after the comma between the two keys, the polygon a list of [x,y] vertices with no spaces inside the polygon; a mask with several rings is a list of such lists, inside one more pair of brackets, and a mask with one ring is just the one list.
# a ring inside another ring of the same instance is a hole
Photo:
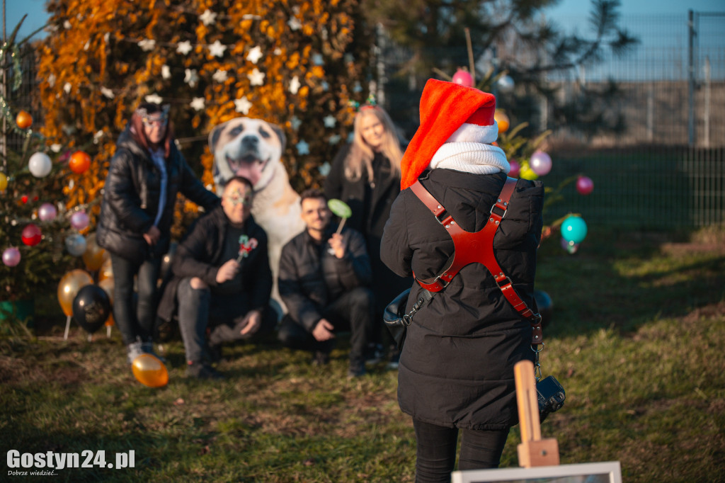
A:
{"label": "dark trousers of the crouching man holding a green round paddle", "polygon": [[[364,287],[345,292],[322,310],[322,316],[332,323],[336,332],[349,329],[350,360],[362,361],[365,347],[373,334],[373,292]],[[284,346],[292,349],[330,352],[333,346],[331,341],[318,342],[289,315],[282,319],[277,337]]]}

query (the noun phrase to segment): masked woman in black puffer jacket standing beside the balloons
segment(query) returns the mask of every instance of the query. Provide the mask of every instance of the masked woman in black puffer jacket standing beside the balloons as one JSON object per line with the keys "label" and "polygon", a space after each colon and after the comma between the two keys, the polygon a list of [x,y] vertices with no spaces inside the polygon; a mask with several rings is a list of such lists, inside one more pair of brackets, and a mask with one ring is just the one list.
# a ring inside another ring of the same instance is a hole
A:
{"label": "masked woman in black puffer jacket standing beside the balloons", "polygon": [[[211,210],[219,198],[204,188],[173,141],[169,107],[141,104],[116,144],[104,186],[96,241],[111,254],[113,318],[128,362],[153,353],[157,281],[168,252],[176,194]],[[133,278],[138,304],[133,311]]]}

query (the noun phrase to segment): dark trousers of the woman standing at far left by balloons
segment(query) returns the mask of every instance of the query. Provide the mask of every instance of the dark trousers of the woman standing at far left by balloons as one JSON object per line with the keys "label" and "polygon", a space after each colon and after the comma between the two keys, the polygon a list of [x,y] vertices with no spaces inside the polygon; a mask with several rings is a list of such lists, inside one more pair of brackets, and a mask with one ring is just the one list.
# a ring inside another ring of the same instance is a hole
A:
{"label": "dark trousers of the woman standing at far left by balloons", "polygon": [[[141,265],[111,254],[113,268],[113,318],[128,345],[141,339],[151,342],[156,321],[157,284],[161,259],[145,260]],[[133,310],[133,278],[136,277],[138,302]]]}

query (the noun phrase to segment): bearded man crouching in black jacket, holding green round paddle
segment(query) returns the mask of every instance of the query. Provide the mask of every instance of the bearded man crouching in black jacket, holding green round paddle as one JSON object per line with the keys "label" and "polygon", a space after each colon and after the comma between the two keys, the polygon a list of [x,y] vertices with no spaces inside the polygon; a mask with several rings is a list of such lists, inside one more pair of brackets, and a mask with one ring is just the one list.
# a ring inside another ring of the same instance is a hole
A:
{"label": "bearded man crouching in black jacket, holding green round paddle", "polygon": [[352,228],[335,233],[322,191],[301,195],[307,229],[282,249],[279,294],[288,314],[278,337],[294,349],[315,352],[313,363],[329,360],[335,332],[349,327],[349,377],[365,374],[364,350],[373,331],[370,258],[363,235]]}

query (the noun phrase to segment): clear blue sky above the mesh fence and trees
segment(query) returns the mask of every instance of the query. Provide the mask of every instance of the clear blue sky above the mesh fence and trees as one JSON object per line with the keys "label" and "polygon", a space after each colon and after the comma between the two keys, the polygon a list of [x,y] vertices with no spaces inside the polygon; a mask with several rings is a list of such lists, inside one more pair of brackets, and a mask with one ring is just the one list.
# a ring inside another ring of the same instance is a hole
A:
{"label": "clear blue sky above the mesh fence and trees", "polygon": [[[6,31],[9,34],[20,21],[24,14],[28,18],[23,22],[20,30],[20,38],[27,36],[36,28],[42,27],[48,19],[48,14],[43,7],[46,0],[9,0],[6,5]],[[656,7],[653,7],[656,4]],[[587,17],[589,15],[590,2],[584,0],[561,0],[556,7],[547,9],[546,15],[550,20],[555,20],[560,25],[568,28],[572,22],[568,19]],[[622,0],[621,15],[682,15],[687,16],[687,10],[693,9],[696,12],[723,12],[725,11],[724,0]],[[1,20],[1,19],[0,19]]]}

